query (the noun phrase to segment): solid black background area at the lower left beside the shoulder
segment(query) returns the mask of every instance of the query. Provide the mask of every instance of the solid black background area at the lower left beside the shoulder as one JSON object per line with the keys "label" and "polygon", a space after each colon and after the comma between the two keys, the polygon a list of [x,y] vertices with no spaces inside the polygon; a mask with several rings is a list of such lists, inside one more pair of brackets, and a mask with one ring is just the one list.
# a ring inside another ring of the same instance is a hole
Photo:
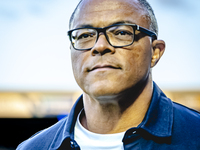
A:
{"label": "solid black background area at the lower left beside the shoulder", "polygon": [[21,142],[57,121],[56,117],[30,119],[1,118],[0,150],[15,150]]}

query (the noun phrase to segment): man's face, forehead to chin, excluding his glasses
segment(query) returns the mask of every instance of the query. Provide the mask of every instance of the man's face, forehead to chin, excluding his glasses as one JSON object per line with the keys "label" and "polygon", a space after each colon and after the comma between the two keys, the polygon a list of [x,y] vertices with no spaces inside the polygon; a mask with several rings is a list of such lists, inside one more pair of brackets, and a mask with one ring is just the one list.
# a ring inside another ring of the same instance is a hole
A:
{"label": "man's face, forehead to chin, excluding his glasses", "polygon": [[[145,11],[134,0],[84,0],[71,28],[84,25],[106,27],[117,22],[149,28]],[[151,55],[148,36],[123,48],[109,45],[103,34],[91,50],[77,51],[71,46],[75,79],[85,93],[96,98],[120,94],[146,80],[150,73]]]}

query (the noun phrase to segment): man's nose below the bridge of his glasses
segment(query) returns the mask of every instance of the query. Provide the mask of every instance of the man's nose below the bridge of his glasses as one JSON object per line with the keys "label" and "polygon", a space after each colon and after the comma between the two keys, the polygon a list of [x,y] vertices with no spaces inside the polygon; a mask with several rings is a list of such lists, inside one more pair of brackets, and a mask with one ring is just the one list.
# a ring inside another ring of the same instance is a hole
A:
{"label": "man's nose below the bridge of his glasses", "polygon": [[99,38],[95,43],[94,47],[91,49],[92,56],[104,55],[107,53],[115,53],[115,48],[109,44],[106,36],[102,33],[99,34]]}

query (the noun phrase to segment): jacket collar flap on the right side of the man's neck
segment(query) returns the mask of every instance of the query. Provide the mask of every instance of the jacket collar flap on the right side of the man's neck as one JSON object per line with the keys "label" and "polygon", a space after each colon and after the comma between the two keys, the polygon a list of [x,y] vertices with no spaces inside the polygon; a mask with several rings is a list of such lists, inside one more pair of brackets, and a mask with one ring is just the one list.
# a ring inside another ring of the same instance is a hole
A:
{"label": "jacket collar flap on the right side of the man's neck", "polygon": [[142,123],[139,125],[153,136],[170,137],[172,135],[172,102],[154,83],[151,104]]}

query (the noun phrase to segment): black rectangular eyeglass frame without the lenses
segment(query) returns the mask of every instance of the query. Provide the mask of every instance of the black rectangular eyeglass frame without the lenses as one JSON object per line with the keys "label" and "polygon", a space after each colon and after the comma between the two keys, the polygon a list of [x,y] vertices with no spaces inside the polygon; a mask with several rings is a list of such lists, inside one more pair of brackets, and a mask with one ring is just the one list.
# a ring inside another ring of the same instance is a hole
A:
{"label": "black rectangular eyeglass frame without the lenses", "polygon": [[93,46],[93,47],[90,47],[90,48],[87,48],[87,49],[77,49],[77,48],[74,47],[74,45],[72,44],[72,32],[73,32],[74,30],[79,30],[79,29],[95,29],[95,30],[97,31],[97,38],[96,38],[95,43],[96,43],[96,42],[98,41],[98,39],[99,39],[99,34],[100,34],[100,33],[104,33],[104,35],[105,35],[105,37],[106,37],[106,40],[107,40],[108,43],[109,43],[112,47],[114,47],[114,48],[122,48],[122,47],[126,47],[126,46],[129,46],[129,45],[132,45],[133,42],[134,42],[134,38],[133,38],[132,43],[130,43],[130,44],[128,44],[128,45],[124,45],[124,46],[114,46],[114,45],[112,45],[112,44],[110,43],[109,38],[108,38],[108,36],[107,36],[107,34],[106,34],[106,30],[107,30],[108,28],[110,28],[110,27],[119,26],[119,25],[131,26],[131,27],[133,28],[133,31],[134,31],[134,36],[135,36],[135,30],[137,30],[137,31],[141,31],[141,32],[145,33],[146,35],[152,37],[152,41],[157,39],[157,34],[156,34],[156,33],[150,31],[149,29],[143,28],[143,27],[141,27],[141,26],[139,26],[139,25],[137,25],[137,24],[130,24],[130,23],[113,24],[113,25],[110,25],[110,26],[107,26],[107,27],[104,27],[104,28],[96,28],[96,27],[76,28],[76,29],[69,30],[69,31],[67,32],[67,34],[68,34],[68,36],[69,36],[69,39],[70,39],[70,42],[71,42],[71,45],[73,46],[73,48],[74,48],[75,50],[79,50],[79,51],[90,50],[90,49],[92,49],[92,48],[94,47],[94,46]]}

